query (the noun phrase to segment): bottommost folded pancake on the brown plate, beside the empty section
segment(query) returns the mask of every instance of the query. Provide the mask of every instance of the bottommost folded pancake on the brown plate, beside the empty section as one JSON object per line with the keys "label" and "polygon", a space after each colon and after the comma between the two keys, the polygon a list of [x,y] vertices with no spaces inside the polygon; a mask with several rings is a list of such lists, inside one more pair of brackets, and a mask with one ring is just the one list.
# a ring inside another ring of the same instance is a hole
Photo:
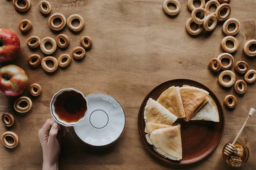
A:
{"label": "bottommost folded pancake on the brown plate, beside the empty section", "polygon": [[182,145],[180,124],[152,131],[150,139],[154,144],[154,150],[160,155],[172,160],[182,159]]}

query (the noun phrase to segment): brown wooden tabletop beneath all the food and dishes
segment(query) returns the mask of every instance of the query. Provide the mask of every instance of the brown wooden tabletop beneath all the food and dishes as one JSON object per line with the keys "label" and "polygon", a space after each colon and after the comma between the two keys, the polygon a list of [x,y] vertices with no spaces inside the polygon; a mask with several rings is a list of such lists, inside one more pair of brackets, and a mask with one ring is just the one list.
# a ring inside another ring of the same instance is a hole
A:
{"label": "brown wooden tabletop beneath all the food and dishes", "polygon": [[[62,140],[59,161],[60,170],[80,169],[230,169],[224,162],[221,151],[225,143],[235,138],[245,121],[251,107],[256,107],[255,83],[248,85],[244,95],[238,95],[233,88],[222,88],[218,74],[208,69],[209,59],[217,57],[221,49],[222,24],[212,32],[191,36],[185,28],[190,17],[187,0],[179,0],[181,11],[169,17],[163,11],[163,0],[49,0],[52,12],[61,13],[67,18],[79,14],[84,18],[85,27],[73,34],[67,26],[62,31],[52,31],[48,26],[48,16],[38,9],[39,0],[31,0],[31,7],[19,13],[11,0],[0,1],[0,28],[14,31],[21,42],[20,55],[13,64],[20,66],[29,77],[29,85],[39,83],[43,92],[38,97],[29,94],[28,88],[21,96],[29,96],[33,107],[28,113],[17,113],[13,103],[17,97],[0,94],[0,113],[10,112],[15,116],[15,125],[6,128],[1,123],[0,133],[11,130],[19,136],[20,143],[15,149],[7,149],[0,144],[1,170],[40,170],[42,150],[38,130],[45,120],[51,117],[49,103],[53,94],[62,88],[75,88],[84,95],[103,93],[117,99],[125,111],[125,130],[111,146],[90,147],[76,136],[73,128]],[[236,35],[239,49],[233,56],[235,62],[244,60],[251,69],[256,69],[253,57],[247,57],[243,45],[247,40],[256,38],[255,0],[231,0],[231,16],[241,23]],[[29,19],[32,29],[21,34],[18,29],[20,20]],[[28,37],[36,35],[56,38],[60,33],[67,34],[70,45],[52,54],[58,57],[79,46],[79,39],[88,35],[93,47],[79,62],[72,59],[66,69],[58,68],[47,74],[41,66],[32,69],[27,64],[29,55],[36,53],[45,56],[40,48],[30,50],[26,45]],[[4,64],[1,64],[2,67]],[[236,72],[234,67],[231,69]],[[236,73],[236,79],[243,79]],[[207,85],[222,102],[227,94],[234,94],[238,103],[236,108],[224,107],[225,128],[218,147],[206,159],[188,166],[172,166],[154,158],[140,139],[137,116],[140,104],[148,92],[159,83],[177,78],[189,78]],[[241,168],[254,170],[256,167],[256,116],[247,123],[239,140],[250,149],[250,158]]]}

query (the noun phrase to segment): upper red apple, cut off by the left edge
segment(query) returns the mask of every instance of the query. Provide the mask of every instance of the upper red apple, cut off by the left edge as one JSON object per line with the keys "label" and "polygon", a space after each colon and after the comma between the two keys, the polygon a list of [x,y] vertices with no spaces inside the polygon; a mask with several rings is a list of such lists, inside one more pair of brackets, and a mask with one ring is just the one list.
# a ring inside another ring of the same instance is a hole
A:
{"label": "upper red apple, cut off by the left edge", "polygon": [[20,51],[20,39],[8,30],[0,29],[0,62],[12,61]]}

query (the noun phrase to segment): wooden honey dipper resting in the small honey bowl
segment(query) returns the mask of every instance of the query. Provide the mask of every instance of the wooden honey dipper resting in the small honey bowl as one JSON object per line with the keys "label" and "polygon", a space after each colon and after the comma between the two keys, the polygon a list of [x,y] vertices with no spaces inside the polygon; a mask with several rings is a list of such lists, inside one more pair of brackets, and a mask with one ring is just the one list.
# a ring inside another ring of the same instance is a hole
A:
{"label": "wooden honey dipper resting in the small honey bowl", "polygon": [[253,116],[253,114],[256,112],[256,110],[254,108],[251,108],[250,109],[250,112],[249,112],[249,115],[246,119],[246,121],[244,122],[244,125],[241,127],[239,133],[237,134],[236,136],[236,139],[233,141],[232,144],[228,144],[226,147],[225,147],[225,150],[224,150],[224,154],[227,155],[227,156],[230,156],[232,155],[235,151],[236,151],[236,147],[234,146],[234,144],[236,143],[237,139],[239,138],[239,136],[241,135],[246,123],[248,122],[250,116]]}

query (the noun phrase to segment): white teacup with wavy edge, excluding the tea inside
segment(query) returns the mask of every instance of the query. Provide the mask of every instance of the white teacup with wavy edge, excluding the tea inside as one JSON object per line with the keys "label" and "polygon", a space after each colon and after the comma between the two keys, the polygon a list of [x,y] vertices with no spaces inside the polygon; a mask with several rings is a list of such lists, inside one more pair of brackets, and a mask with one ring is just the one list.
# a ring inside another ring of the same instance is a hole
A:
{"label": "white teacup with wavy edge, excluding the tea inside", "polygon": [[58,91],[53,97],[52,97],[52,101],[50,103],[50,108],[51,108],[51,113],[52,113],[52,117],[56,120],[56,122],[58,122],[59,124],[61,125],[64,125],[64,126],[75,126],[75,125],[78,125],[80,122],[82,122],[86,116],[86,113],[88,111],[88,102],[87,102],[87,99],[84,97],[84,101],[86,102],[86,106],[87,106],[87,110],[86,112],[84,113],[84,116],[79,119],[77,122],[66,122],[62,119],[59,118],[59,116],[55,113],[55,107],[54,107],[54,103],[57,99],[57,96],[59,96],[60,94],[62,94],[64,91],[75,91],[76,93],[79,93],[81,94],[83,97],[84,97],[84,94],[82,94],[80,91],[77,91],[73,88],[64,88],[60,91]]}

